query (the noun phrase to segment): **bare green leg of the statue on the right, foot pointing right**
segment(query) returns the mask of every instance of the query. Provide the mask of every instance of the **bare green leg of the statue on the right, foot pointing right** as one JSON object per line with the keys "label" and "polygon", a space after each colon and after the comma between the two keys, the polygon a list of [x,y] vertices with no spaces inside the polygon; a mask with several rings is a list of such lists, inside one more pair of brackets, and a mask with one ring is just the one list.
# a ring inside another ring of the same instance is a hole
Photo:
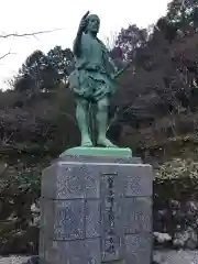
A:
{"label": "bare green leg of the statue on the right, foot pointing right", "polygon": [[97,124],[98,124],[98,145],[106,147],[116,147],[116,145],[107,139],[107,125],[108,125],[108,98],[103,98],[97,103]]}

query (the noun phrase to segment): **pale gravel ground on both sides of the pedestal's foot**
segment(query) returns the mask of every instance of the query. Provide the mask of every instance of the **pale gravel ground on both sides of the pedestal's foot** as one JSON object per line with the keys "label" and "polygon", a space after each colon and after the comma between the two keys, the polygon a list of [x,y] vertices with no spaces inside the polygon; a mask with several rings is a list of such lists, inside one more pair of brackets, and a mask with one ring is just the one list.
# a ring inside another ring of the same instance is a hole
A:
{"label": "pale gravel ground on both sides of the pedestal's foot", "polygon": [[[0,264],[22,264],[30,256],[0,256]],[[198,264],[198,251],[156,251],[154,260],[160,264]]]}

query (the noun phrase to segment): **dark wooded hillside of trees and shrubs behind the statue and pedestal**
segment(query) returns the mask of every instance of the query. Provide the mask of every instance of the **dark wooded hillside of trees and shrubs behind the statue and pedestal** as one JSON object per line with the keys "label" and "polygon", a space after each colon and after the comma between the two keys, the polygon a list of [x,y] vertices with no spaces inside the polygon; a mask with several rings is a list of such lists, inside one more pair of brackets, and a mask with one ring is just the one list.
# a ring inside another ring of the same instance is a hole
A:
{"label": "dark wooded hillside of trees and shrubs behind the statue and pedestal", "polygon": [[[172,234],[172,243],[177,226],[187,229],[182,206],[197,200],[197,32],[198,1],[173,0],[150,29],[121,29],[110,51],[119,69],[129,66],[116,80],[108,135],[154,166],[154,231]],[[31,206],[41,172],[80,140],[67,82],[73,69],[69,48],[35,51],[0,92],[0,254],[37,251]]]}

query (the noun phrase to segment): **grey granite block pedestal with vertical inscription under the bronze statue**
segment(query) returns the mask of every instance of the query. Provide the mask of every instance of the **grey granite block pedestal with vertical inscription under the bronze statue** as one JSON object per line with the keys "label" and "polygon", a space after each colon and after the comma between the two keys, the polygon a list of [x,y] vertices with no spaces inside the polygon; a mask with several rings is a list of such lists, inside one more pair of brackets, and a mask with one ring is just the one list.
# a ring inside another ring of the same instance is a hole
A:
{"label": "grey granite block pedestal with vertical inscription under the bronze statue", "polygon": [[150,264],[151,165],[119,155],[64,155],[43,172],[43,264]]}

